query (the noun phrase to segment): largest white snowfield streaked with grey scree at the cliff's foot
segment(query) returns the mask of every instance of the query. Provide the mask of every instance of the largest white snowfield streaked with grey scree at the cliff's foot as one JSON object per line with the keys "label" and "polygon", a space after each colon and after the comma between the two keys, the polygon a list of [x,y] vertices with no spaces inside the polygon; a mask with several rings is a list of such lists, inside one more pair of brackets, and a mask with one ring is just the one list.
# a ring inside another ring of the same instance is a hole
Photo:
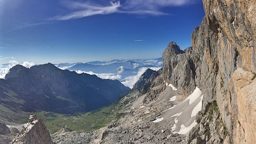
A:
{"label": "largest white snowfield streaked with grey scree at the cliff's foot", "polygon": [[[176,99],[177,96],[173,96],[170,98],[170,101],[175,101]],[[193,90],[193,93],[189,95],[188,98],[174,107],[162,111],[162,118],[157,118],[157,120],[152,122],[170,123],[172,125],[171,132],[186,134],[197,124],[195,118],[196,114],[202,110],[202,99],[202,92],[196,86],[195,90]]]}

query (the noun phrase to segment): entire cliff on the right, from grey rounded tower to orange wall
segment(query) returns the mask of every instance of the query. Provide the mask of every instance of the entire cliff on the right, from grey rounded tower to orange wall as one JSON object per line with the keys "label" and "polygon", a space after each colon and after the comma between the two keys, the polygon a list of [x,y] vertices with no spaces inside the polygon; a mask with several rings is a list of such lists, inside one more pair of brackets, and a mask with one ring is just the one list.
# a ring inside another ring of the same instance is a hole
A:
{"label": "entire cliff on the right, from grey rounded tower to orange wall", "polygon": [[[232,143],[255,143],[256,1],[203,2],[205,18],[193,30],[193,49],[184,52],[171,42],[163,53],[163,73],[155,82],[166,80],[177,87],[178,95],[189,95],[198,86],[205,95],[202,114],[217,101],[216,112],[220,112]],[[151,89],[146,98],[154,99],[150,93],[157,94]]]}

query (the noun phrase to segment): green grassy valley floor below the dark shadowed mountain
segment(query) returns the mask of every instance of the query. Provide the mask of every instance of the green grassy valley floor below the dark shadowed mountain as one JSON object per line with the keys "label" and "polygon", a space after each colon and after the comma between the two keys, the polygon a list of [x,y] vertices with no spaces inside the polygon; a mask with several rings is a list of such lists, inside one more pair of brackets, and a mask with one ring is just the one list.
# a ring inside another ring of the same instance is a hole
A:
{"label": "green grassy valley floor below the dark shadowed mountain", "polygon": [[[107,126],[112,120],[111,112],[115,108],[115,104],[108,107],[99,108],[85,114],[74,112],[73,115],[57,114],[54,112],[36,112],[38,118],[42,118],[45,126],[51,134],[58,132],[62,127],[69,127],[71,130],[83,130],[89,132],[91,130],[100,129]],[[23,118],[22,122],[26,123],[27,118]]]}

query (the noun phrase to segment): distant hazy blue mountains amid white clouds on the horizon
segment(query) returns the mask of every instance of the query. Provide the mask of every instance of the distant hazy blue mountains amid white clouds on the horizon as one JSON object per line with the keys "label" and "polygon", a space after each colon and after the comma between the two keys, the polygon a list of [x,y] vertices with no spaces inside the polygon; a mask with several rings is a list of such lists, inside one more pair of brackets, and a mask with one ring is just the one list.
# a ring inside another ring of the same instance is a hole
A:
{"label": "distant hazy blue mountains amid white clouds on the horizon", "polygon": [[77,73],[95,74],[102,79],[119,80],[130,88],[139,80],[148,68],[159,70],[163,67],[162,58],[149,60],[111,60],[111,61],[92,61],[77,63],[55,64],[63,70],[76,71]]}

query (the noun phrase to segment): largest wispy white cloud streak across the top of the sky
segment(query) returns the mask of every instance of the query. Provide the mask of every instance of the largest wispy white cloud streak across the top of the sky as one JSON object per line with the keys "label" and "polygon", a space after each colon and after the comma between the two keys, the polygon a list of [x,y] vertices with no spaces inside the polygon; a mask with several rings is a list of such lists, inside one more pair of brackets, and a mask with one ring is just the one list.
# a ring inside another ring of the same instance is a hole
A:
{"label": "largest wispy white cloud streak across the top of the sky", "polygon": [[191,4],[198,0],[126,0],[123,4],[120,1],[110,1],[109,5],[98,5],[89,2],[66,1],[64,5],[72,12],[66,15],[57,15],[48,20],[71,20],[82,17],[89,17],[98,14],[139,14],[139,15],[168,15],[161,11],[164,7],[177,7]]}

